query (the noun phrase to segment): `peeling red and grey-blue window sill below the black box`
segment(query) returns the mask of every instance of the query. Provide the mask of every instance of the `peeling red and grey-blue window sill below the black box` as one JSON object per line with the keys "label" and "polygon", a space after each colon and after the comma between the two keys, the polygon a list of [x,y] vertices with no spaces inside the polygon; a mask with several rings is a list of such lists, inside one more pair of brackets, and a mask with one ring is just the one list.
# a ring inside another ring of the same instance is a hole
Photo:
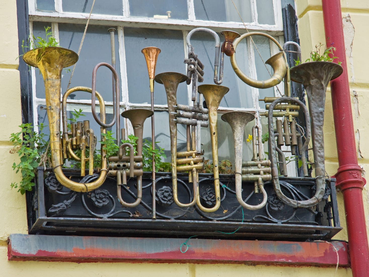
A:
{"label": "peeling red and grey-blue window sill below the black box", "polygon": [[[248,240],[80,237],[12,234],[8,260],[74,262],[249,263],[286,266],[349,267],[345,242],[269,242]],[[334,246],[334,247],[333,247]],[[186,247],[182,248],[183,250]]]}

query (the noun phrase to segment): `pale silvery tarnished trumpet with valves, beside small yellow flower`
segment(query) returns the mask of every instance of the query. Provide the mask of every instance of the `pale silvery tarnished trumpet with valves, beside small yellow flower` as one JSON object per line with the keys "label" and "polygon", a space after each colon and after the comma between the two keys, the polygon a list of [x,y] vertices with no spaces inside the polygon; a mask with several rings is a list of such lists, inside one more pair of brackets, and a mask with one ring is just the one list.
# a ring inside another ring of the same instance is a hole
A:
{"label": "pale silvery tarnished trumpet with valves, beside small yellow flower", "polygon": [[[270,181],[272,179],[272,175],[270,175],[270,161],[264,160],[264,155],[262,154],[263,151],[261,147],[261,129],[257,126],[252,127],[253,159],[252,161],[246,161],[244,163],[246,168],[242,168],[242,143],[245,133],[245,126],[247,123],[255,119],[255,115],[249,112],[234,111],[224,113],[221,116],[221,119],[231,125],[233,133],[236,179],[235,185],[237,200],[239,204],[241,204],[241,206],[246,209],[261,209],[263,208],[263,206],[265,206],[266,201],[268,200],[268,195],[266,194],[266,191],[264,189],[263,181]],[[256,142],[256,129],[258,129],[258,142]],[[259,153],[256,146],[259,146]],[[263,194],[263,201],[260,204],[249,205],[246,204],[245,201],[242,199],[242,181],[244,181],[243,179],[245,179],[245,181],[254,181],[255,192],[258,192],[258,188],[261,190]]]}

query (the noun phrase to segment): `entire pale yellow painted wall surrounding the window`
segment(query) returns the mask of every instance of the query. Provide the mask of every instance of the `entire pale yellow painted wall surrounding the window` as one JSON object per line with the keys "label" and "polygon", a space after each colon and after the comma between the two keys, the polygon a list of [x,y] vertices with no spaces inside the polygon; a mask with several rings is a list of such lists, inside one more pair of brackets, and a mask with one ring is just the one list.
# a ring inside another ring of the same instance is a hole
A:
{"label": "entire pale yellow painted wall surrounding the window", "polygon": [[[347,51],[351,83],[352,108],[354,111],[355,131],[360,144],[361,158],[359,164],[368,170],[369,136],[369,78],[363,59],[368,47],[367,30],[369,30],[369,3],[367,0],[341,1],[342,17],[350,18],[346,21],[346,33],[353,35],[351,47]],[[299,0],[297,3],[299,17],[299,33],[303,60],[306,59],[311,48],[318,42],[324,42],[323,16],[319,0]],[[352,26],[351,26],[352,24]],[[19,175],[14,174],[11,164],[17,158],[9,154],[11,144],[10,133],[18,131],[21,124],[20,82],[17,71],[18,37],[17,14],[15,0],[0,0],[0,276],[333,276],[334,268],[316,267],[272,267],[246,265],[193,265],[193,264],[130,264],[130,263],[62,263],[35,261],[7,261],[7,238],[11,233],[27,233],[27,219],[25,198],[10,189],[11,182],[19,181]],[[353,28],[352,28],[353,27]],[[352,40],[352,38],[351,38]],[[349,43],[348,45],[350,45]],[[354,101],[355,100],[355,101]],[[331,113],[330,95],[327,95],[325,117],[326,168],[329,174],[337,170],[337,151]],[[360,140],[359,140],[360,135]],[[342,195],[338,194],[342,225],[345,226]],[[364,189],[364,202],[368,211],[368,190]],[[367,217],[368,218],[368,217]],[[347,239],[342,230],[337,239]],[[337,277],[352,276],[350,269],[339,269]]]}

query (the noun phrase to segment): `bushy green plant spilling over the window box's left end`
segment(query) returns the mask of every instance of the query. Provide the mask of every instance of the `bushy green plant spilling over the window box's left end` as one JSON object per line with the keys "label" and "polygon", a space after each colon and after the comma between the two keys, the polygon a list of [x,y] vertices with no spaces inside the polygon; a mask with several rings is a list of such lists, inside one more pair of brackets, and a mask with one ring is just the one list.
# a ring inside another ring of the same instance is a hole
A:
{"label": "bushy green plant spilling over the window box's left end", "polygon": [[33,178],[38,165],[44,163],[45,166],[49,166],[51,162],[47,154],[49,141],[45,140],[45,134],[42,132],[45,125],[42,123],[38,125],[39,134],[30,123],[21,124],[19,127],[20,132],[10,135],[14,148],[9,153],[18,153],[20,156],[20,163],[13,163],[12,167],[16,170],[15,173],[21,171],[22,179],[19,183],[12,182],[10,186],[18,188],[18,192],[24,194],[25,191],[31,191],[35,185]]}

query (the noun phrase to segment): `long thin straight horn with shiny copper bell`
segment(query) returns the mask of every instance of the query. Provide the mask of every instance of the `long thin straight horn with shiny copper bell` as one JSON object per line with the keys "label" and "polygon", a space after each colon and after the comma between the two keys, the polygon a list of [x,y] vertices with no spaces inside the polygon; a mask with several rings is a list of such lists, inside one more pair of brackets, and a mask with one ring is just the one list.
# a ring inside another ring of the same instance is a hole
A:
{"label": "long thin straight horn with shiny copper bell", "polygon": [[[154,76],[156,61],[158,60],[158,55],[161,50],[157,47],[146,47],[141,50],[141,53],[145,56],[145,61],[147,65],[147,71],[149,73],[150,82],[150,95],[151,95],[151,139],[152,139],[152,149],[155,149],[155,123],[154,123]],[[155,183],[155,156],[152,154],[152,218],[156,219],[156,183]]]}

